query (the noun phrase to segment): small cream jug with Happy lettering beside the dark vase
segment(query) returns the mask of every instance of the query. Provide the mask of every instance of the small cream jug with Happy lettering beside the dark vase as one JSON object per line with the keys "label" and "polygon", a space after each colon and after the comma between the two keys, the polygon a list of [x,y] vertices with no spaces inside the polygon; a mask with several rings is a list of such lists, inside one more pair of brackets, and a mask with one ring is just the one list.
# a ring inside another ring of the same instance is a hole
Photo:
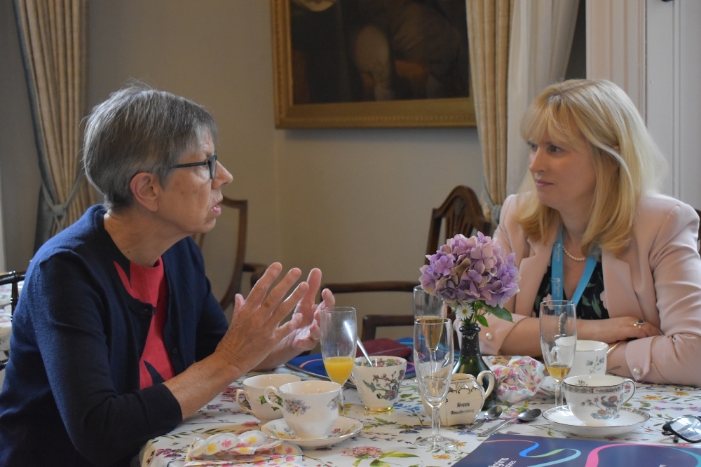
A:
{"label": "small cream jug with Happy lettering beside the dark vase", "polygon": [[[484,391],[482,381],[489,380],[489,385]],[[456,373],[452,376],[450,389],[445,402],[440,407],[440,423],[444,426],[470,424],[482,410],[484,399],[494,391],[496,378],[491,371],[479,372],[475,378],[466,373]],[[424,410],[431,413],[430,407],[423,400]]]}

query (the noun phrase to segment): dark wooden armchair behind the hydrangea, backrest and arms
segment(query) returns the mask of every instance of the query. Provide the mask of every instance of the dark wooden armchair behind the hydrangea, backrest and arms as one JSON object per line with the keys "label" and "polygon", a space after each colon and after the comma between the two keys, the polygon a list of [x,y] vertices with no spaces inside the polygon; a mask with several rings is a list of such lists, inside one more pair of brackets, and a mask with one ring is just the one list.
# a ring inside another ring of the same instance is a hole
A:
{"label": "dark wooden armchair behind the hydrangea, backrest and arms", "polygon": [[[481,231],[491,235],[491,223],[486,221],[479,199],[472,188],[456,186],[443,204],[431,212],[428,226],[428,243],[426,254],[432,255],[449,237],[458,233],[475,235]],[[428,258],[426,259],[428,264]],[[418,274],[418,272],[417,272]],[[353,283],[329,283],[322,285],[329,288],[334,295],[339,293],[359,292],[409,292],[413,293],[417,281],[366,281]],[[367,314],[362,319],[360,340],[376,337],[376,330],[384,326],[413,326],[414,314]]]}

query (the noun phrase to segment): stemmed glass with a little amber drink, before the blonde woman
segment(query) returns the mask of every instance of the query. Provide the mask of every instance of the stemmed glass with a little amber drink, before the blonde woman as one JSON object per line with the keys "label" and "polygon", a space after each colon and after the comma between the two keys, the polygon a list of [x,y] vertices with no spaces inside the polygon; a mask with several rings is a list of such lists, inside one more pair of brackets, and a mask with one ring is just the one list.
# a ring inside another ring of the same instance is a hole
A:
{"label": "stemmed glass with a little amber drink, before the blonde woman", "polygon": [[571,300],[540,302],[540,350],[545,368],[555,380],[555,407],[564,405],[562,382],[577,347],[577,312]]}

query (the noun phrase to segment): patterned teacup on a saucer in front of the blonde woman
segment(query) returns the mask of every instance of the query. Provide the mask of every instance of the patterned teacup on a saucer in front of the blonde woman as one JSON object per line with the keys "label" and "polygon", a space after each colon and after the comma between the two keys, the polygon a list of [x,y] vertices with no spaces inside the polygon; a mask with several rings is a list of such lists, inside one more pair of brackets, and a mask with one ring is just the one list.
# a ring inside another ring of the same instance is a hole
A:
{"label": "patterned teacup on a saucer in front of the blonde woman", "polygon": [[566,377],[563,391],[572,414],[589,426],[606,426],[635,393],[635,382],[613,375]]}

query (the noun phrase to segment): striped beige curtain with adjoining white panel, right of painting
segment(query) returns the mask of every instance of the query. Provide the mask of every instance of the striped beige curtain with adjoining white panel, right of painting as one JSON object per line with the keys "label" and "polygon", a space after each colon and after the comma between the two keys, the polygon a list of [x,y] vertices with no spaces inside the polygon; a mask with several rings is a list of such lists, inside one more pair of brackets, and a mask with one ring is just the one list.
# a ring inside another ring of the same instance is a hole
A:
{"label": "striped beige curtain with adjoining white panel, right of painting", "polygon": [[491,221],[526,172],[519,124],[546,85],[564,78],[579,0],[466,0],[470,72]]}

